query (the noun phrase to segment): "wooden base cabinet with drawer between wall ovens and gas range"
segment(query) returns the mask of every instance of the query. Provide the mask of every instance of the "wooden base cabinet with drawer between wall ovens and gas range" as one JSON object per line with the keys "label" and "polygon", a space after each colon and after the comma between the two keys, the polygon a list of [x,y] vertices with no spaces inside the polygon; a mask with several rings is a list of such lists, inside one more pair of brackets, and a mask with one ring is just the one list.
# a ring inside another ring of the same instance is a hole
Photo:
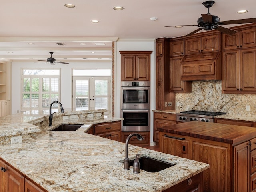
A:
{"label": "wooden base cabinet with drawer between wall ovens and gas range", "polygon": [[159,127],[176,124],[176,114],[154,112],[154,142],[159,142]]}

